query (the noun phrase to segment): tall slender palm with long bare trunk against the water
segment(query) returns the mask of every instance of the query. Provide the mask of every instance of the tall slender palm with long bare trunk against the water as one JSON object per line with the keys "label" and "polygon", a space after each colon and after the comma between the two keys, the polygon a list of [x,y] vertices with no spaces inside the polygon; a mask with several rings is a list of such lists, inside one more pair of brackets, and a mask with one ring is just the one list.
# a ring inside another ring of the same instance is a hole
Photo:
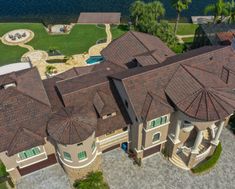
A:
{"label": "tall slender palm with long bare trunk against the water", "polygon": [[188,9],[190,3],[192,3],[192,0],[171,0],[171,6],[174,7],[177,12],[177,19],[176,19],[175,29],[174,29],[175,35],[178,29],[180,14],[183,10]]}

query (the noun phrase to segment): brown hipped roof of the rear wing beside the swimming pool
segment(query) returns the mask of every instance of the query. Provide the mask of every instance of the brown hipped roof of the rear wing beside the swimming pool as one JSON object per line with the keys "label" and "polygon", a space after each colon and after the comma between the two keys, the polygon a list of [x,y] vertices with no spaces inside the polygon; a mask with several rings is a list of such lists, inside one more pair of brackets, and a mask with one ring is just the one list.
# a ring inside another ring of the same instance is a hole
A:
{"label": "brown hipped roof of the rear wing beside the swimming pool", "polygon": [[[106,60],[129,67],[129,63],[139,59],[141,65],[158,64],[175,55],[155,36],[130,31],[111,42],[101,54]],[[141,57],[141,58],[140,58]]]}

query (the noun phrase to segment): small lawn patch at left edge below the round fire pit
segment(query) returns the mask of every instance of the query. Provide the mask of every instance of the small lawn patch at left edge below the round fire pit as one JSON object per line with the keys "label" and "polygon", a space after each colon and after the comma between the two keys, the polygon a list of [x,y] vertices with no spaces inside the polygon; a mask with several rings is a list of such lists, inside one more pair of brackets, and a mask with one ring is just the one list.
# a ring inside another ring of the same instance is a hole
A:
{"label": "small lawn patch at left edge below the round fire pit", "polygon": [[28,50],[18,46],[8,46],[0,42],[0,66],[20,62],[21,56]]}

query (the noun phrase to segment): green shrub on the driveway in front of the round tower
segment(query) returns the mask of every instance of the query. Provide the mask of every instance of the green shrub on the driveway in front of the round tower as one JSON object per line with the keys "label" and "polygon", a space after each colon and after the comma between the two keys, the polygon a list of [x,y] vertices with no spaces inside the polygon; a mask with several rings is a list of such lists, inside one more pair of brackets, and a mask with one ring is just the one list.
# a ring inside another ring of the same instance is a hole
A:
{"label": "green shrub on the driveway in front of the round tower", "polygon": [[108,184],[104,181],[101,171],[90,172],[83,180],[76,180],[73,184],[76,189],[108,189]]}

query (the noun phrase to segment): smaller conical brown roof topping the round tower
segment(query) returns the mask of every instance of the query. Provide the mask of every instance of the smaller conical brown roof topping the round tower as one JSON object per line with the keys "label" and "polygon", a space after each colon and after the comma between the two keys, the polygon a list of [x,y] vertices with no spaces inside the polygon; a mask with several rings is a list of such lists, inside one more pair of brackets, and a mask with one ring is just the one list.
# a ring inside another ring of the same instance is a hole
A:
{"label": "smaller conical brown roof topping the round tower", "polygon": [[54,113],[47,125],[49,135],[61,144],[76,144],[90,137],[96,129],[94,111],[83,107],[66,107]]}

